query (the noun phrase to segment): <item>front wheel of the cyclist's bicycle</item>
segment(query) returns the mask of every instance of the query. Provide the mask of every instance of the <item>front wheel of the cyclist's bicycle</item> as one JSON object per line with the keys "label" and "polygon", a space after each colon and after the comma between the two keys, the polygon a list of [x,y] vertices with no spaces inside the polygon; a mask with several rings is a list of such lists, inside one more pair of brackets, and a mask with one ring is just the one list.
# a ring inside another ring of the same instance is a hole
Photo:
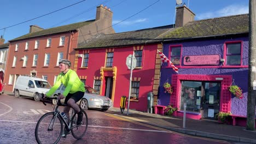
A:
{"label": "front wheel of the cyclist's bicycle", "polygon": [[63,122],[54,112],[45,113],[37,122],[35,136],[37,143],[57,143],[63,131]]}

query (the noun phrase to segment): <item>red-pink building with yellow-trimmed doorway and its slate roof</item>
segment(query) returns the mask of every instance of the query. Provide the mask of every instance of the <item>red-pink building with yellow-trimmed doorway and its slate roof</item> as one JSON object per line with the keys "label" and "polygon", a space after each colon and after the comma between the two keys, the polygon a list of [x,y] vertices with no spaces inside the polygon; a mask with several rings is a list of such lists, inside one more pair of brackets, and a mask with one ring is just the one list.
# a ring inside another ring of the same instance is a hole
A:
{"label": "red-pink building with yellow-trimmed doorway and its slate roof", "polygon": [[132,71],[130,109],[147,111],[148,93],[154,94],[155,104],[158,95],[160,61],[156,58],[159,58],[157,50],[162,49],[162,44],[157,37],[171,27],[103,35],[78,47],[75,69],[80,79],[111,98],[114,107],[119,107],[121,97],[129,97],[130,70],[126,58],[135,52],[137,63]]}

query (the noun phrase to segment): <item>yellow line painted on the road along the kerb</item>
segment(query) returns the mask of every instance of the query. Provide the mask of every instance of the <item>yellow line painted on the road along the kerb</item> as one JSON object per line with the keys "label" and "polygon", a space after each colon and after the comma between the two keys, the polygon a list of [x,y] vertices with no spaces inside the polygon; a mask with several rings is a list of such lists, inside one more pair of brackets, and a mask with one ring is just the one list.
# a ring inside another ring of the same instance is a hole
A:
{"label": "yellow line painted on the road along the kerb", "polygon": [[154,126],[149,125],[149,124],[144,124],[144,123],[136,122],[136,121],[133,121],[133,120],[131,120],[131,119],[123,118],[123,117],[121,117],[121,116],[115,116],[115,115],[112,115],[112,114],[105,114],[105,115],[106,115],[106,116],[109,116],[109,117],[114,117],[114,118],[117,118],[117,119],[121,119],[121,120],[123,120],[123,121],[127,121],[127,122],[131,122],[131,123],[143,125],[143,126],[145,126],[145,127],[149,127],[149,128],[153,128],[153,129],[158,129],[158,130],[162,130],[162,131],[167,131],[168,133],[172,133],[172,134],[177,134],[177,135],[187,136],[187,137],[193,137],[193,138],[202,139],[202,140],[209,140],[209,141],[230,143],[230,142],[223,141],[223,140],[214,140],[214,139],[209,139],[209,138],[206,138],[206,137],[199,137],[199,136],[191,136],[191,135],[181,134],[181,133],[177,133],[177,132],[175,132],[175,131],[171,131],[171,130],[167,130],[167,129],[163,129],[163,128],[159,128],[159,127],[154,127]]}

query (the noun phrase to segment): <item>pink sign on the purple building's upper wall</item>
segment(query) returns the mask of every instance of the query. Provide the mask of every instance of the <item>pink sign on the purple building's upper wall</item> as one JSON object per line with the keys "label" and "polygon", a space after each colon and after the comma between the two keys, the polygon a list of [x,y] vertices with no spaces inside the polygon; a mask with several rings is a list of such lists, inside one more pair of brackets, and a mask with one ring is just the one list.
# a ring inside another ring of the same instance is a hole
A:
{"label": "pink sign on the purple building's upper wall", "polygon": [[184,56],[184,65],[218,65],[219,55]]}

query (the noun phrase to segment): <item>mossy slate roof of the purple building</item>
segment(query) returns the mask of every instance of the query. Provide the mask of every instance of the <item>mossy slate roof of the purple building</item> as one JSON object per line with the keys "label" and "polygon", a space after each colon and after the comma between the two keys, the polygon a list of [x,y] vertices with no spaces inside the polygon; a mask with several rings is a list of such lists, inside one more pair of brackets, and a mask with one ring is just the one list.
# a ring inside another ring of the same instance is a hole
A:
{"label": "mossy slate roof of the purple building", "polygon": [[164,39],[200,38],[249,32],[249,15],[234,15],[187,23],[165,34]]}

